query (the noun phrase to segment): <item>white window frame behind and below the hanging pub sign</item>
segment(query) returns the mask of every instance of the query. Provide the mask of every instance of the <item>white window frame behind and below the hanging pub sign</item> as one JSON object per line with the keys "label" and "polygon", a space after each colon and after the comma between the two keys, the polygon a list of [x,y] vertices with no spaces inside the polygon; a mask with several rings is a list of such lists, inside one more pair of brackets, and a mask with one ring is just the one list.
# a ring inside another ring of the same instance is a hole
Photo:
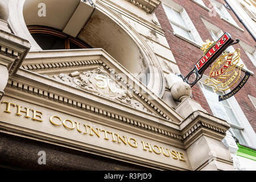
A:
{"label": "white window frame behind and below the hanging pub sign", "polygon": [[[204,84],[204,81],[207,77],[208,76],[203,75],[201,80],[198,82],[200,88],[201,88],[200,84]],[[202,90],[202,88],[201,88],[201,90]],[[227,94],[230,91],[231,90],[229,89],[229,90],[226,90],[224,93]],[[203,92],[203,90],[202,90],[202,92]],[[205,96],[205,98],[206,98],[206,96]],[[253,128],[251,127],[251,125],[248,121],[248,119],[246,118],[245,114],[243,113],[240,105],[238,104],[238,102],[236,100],[236,97],[234,97],[234,96],[230,97],[227,101],[228,101],[229,105],[232,107],[232,110],[234,111],[235,116],[238,119],[238,121],[240,122],[241,126],[237,126],[237,125],[234,125],[232,123],[229,123],[229,125],[232,126],[232,127],[237,128],[237,129],[242,129],[242,137],[246,140],[247,145],[256,148],[256,134],[255,134],[255,131],[253,130]],[[208,101],[207,101],[207,103],[208,103]]]}

